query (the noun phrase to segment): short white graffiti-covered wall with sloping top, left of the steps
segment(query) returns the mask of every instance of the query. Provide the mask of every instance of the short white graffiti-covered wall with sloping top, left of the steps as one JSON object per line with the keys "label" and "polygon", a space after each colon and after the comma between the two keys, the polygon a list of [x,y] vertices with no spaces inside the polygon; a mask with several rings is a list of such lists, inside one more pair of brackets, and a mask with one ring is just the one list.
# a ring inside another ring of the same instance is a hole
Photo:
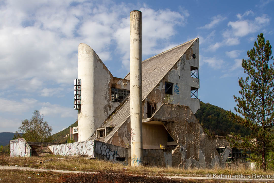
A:
{"label": "short white graffiti-covered wall with sloping top, left of the steps", "polygon": [[10,140],[10,156],[30,157],[32,148],[24,138]]}

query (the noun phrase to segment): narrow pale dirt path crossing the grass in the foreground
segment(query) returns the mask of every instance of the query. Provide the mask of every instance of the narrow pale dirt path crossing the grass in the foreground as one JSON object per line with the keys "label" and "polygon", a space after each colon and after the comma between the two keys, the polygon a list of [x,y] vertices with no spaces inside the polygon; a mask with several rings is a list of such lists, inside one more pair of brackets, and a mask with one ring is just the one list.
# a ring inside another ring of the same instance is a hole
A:
{"label": "narrow pale dirt path crossing the grass in the foreground", "polygon": [[[56,172],[56,173],[95,173],[85,171],[72,171],[72,170],[49,170],[49,169],[38,169],[29,167],[18,167],[18,166],[0,166],[0,170],[23,170],[23,171],[39,171],[39,172]],[[274,179],[252,179],[252,178],[216,178],[210,177],[186,177],[186,176],[167,176],[172,179],[194,179],[194,180],[229,180],[236,182],[274,182]]]}

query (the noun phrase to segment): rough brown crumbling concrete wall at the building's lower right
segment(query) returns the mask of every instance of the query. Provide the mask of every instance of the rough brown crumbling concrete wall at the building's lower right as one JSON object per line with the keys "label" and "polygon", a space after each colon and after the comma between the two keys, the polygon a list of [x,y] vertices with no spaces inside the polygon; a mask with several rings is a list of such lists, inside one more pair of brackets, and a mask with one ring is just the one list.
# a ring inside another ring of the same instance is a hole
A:
{"label": "rough brown crumbling concrete wall at the building's lower right", "polygon": [[[163,104],[151,120],[162,121],[173,139],[178,143],[172,154],[175,167],[223,166],[231,152],[225,137],[207,136],[188,106]],[[217,147],[226,147],[222,157]]]}

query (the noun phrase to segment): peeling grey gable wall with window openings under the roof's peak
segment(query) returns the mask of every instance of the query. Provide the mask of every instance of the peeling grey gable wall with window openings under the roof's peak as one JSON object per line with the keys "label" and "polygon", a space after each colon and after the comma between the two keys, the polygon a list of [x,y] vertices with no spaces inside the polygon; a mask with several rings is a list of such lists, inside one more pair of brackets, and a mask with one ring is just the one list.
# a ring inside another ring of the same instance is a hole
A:
{"label": "peeling grey gable wall with window openings under the roof's peak", "polygon": [[[192,54],[195,54],[195,59],[192,57]],[[143,101],[143,118],[147,118],[147,101],[156,102],[158,107],[162,103],[189,106],[193,113],[200,108],[199,99],[190,97],[191,87],[200,88],[199,79],[190,77],[191,67],[199,68],[198,39],[149,93],[145,101]],[[167,94],[165,94],[165,82],[173,83],[173,94],[170,95],[169,101]]]}

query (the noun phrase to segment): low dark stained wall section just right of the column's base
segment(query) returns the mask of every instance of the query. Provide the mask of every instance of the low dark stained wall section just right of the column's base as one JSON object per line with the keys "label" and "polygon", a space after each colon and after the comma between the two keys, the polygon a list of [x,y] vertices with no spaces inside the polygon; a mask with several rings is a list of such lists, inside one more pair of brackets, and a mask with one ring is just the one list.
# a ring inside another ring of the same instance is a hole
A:
{"label": "low dark stained wall section just right of the column's base", "polygon": [[[165,149],[143,149],[142,161],[144,165],[150,166],[172,166],[172,150]],[[132,163],[138,163],[132,159]]]}

